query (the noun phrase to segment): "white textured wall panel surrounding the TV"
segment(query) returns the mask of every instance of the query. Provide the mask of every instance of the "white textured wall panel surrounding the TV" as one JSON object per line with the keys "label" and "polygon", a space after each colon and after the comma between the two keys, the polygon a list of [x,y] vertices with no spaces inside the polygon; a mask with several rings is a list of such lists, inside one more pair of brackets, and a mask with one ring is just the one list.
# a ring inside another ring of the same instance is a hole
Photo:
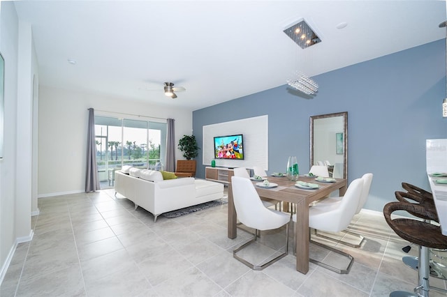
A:
{"label": "white textured wall panel surrounding the TV", "polygon": [[[214,137],[242,134],[244,160],[214,159]],[[268,170],[268,115],[228,121],[203,126],[203,165],[211,166],[216,160],[217,167],[262,166]]]}

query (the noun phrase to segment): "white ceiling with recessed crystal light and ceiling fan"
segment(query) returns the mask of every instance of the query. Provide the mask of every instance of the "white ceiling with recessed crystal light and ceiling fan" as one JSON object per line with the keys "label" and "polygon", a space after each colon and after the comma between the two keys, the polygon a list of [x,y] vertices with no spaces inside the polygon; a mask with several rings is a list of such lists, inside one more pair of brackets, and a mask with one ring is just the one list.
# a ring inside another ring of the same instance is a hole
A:
{"label": "white ceiling with recessed crystal light and ceiling fan", "polygon": [[[439,28],[445,1],[16,1],[15,7],[32,26],[41,85],[191,110],[284,85],[295,70],[312,77],[446,37]],[[283,32],[302,18],[322,40],[305,50]],[[168,98],[163,82],[186,91]]]}

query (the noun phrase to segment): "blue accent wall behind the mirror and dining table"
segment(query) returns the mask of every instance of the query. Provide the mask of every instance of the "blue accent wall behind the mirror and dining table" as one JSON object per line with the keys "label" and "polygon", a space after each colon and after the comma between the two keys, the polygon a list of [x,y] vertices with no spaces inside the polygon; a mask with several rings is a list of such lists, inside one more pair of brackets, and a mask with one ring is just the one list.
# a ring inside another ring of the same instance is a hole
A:
{"label": "blue accent wall behind the mirror and dining table", "polygon": [[[346,54],[349,54],[347,52]],[[315,61],[318,63],[318,61]],[[265,73],[265,75],[269,75]],[[309,170],[309,117],[348,112],[349,182],[372,172],[365,208],[382,211],[406,181],[430,188],[425,174],[425,139],[447,138],[446,40],[323,73],[314,98],[288,85],[193,112],[193,135],[202,126],[268,114],[269,170],[284,172],[296,155],[300,173]],[[199,151],[197,176],[205,177]]]}

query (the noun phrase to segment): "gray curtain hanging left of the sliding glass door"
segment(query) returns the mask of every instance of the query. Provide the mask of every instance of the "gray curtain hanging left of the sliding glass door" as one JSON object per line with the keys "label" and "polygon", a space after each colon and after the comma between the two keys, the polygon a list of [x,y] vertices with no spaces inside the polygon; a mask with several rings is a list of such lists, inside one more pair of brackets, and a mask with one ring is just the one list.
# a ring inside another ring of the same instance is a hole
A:
{"label": "gray curtain hanging left of the sliding glass door", "polygon": [[89,128],[87,130],[87,172],[85,174],[85,192],[100,190],[98,167],[96,165],[95,114],[89,108]]}

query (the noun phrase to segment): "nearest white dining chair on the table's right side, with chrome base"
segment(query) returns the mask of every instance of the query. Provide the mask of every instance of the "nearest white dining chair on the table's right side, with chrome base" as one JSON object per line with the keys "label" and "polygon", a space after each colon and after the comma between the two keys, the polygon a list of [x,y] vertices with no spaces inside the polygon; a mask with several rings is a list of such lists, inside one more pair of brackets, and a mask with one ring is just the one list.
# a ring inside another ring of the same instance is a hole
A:
{"label": "nearest white dining chair on the table's right side, with chrome base", "polygon": [[[362,178],[357,178],[353,180],[351,184],[349,184],[349,187],[346,190],[343,199],[339,201],[339,203],[323,207],[312,206],[311,208],[309,208],[309,227],[312,229],[318,229],[328,232],[339,232],[346,229],[346,227],[349,226],[349,223],[353,219],[353,216],[356,214],[357,206],[362,195],[362,188],[363,180]],[[293,222],[297,221],[296,214],[292,216],[292,220]],[[346,268],[337,268],[335,266],[331,266],[315,259],[309,259],[309,261],[318,266],[322,266],[324,268],[328,268],[331,271],[335,271],[336,273],[349,273],[354,261],[354,258],[351,256],[351,254],[342,252],[341,250],[337,250],[328,245],[323,245],[322,243],[318,243],[310,239],[309,241],[322,248],[347,257],[349,259],[349,264]]]}

